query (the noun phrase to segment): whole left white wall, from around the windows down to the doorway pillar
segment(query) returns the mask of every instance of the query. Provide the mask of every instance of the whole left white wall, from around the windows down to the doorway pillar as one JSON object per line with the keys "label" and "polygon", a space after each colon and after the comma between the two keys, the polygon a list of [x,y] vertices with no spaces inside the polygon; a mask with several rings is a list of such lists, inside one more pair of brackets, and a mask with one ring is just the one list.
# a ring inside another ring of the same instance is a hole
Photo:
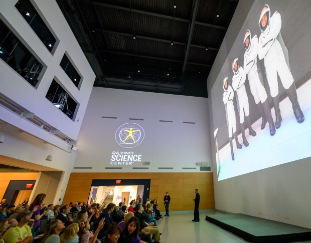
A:
{"label": "whole left white wall, from around the windows down to the doorway pillar", "polygon": [[[59,40],[53,55],[40,41],[18,10],[14,7],[17,1],[0,1],[0,18],[28,48],[28,50],[47,67],[37,89],[17,74],[9,65],[0,59],[0,92],[16,104],[34,112],[43,121],[61,130],[68,138],[76,140],[81,127],[85,109],[94,83],[95,74],[76,41],[56,1],[31,0],[41,18]],[[83,80],[77,89],[60,67],[64,53],[67,53],[81,74]],[[48,99],[45,98],[53,78],[56,77],[69,95],[79,104],[76,119],[71,120]],[[48,133],[28,120],[0,106],[0,133],[5,135],[5,143],[0,144],[0,155],[20,161],[20,166],[35,170],[64,171],[54,196],[54,204],[60,204],[65,193],[67,182],[72,171],[75,153],[68,153],[69,144]],[[2,122],[0,122],[2,123]],[[8,125],[11,124],[11,125]],[[20,133],[19,131],[25,131]],[[44,143],[47,142],[47,143]],[[48,144],[49,143],[49,144]],[[46,161],[53,144],[53,161]],[[18,166],[15,164],[15,166]],[[59,201],[59,198],[61,200]]]}

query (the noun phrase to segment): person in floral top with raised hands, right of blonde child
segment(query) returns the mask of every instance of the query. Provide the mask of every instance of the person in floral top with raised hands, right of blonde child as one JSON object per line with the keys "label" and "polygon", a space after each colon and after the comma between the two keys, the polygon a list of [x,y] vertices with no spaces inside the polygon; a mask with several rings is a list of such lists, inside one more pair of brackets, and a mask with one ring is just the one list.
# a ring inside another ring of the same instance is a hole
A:
{"label": "person in floral top with raised hands, right of blonde child", "polygon": [[100,243],[101,241],[97,239],[99,231],[103,228],[105,224],[105,219],[102,218],[94,234],[89,231],[90,223],[88,221],[83,221],[82,219],[78,221],[79,224],[79,243]]}

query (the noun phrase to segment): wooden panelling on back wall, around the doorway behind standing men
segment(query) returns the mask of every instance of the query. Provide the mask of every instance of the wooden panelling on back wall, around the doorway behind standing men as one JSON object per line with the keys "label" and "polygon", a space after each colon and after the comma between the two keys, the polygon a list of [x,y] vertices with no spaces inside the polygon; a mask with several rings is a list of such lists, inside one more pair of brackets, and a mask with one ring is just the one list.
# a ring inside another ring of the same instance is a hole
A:
{"label": "wooden panelling on back wall, around the doorway behind standing men", "polygon": [[194,210],[196,188],[201,195],[199,208],[215,208],[212,173],[71,173],[63,203],[87,200],[93,179],[150,179],[149,199],[158,199],[161,211],[167,191],[171,211]]}

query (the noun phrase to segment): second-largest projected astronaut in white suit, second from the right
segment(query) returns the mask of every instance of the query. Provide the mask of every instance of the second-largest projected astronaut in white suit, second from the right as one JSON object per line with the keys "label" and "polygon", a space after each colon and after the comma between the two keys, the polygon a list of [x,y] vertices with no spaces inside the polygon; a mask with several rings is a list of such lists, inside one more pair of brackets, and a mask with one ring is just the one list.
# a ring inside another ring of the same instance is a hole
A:
{"label": "second-largest projected astronaut in white suit, second from the right", "polygon": [[255,103],[258,105],[262,117],[261,130],[265,128],[268,121],[270,135],[275,134],[275,126],[271,116],[271,109],[268,101],[268,96],[265,88],[263,87],[263,79],[259,79],[257,69],[257,55],[258,55],[258,38],[255,35],[251,37],[249,30],[244,35],[244,72],[247,75],[249,82],[250,92],[254,97]]}

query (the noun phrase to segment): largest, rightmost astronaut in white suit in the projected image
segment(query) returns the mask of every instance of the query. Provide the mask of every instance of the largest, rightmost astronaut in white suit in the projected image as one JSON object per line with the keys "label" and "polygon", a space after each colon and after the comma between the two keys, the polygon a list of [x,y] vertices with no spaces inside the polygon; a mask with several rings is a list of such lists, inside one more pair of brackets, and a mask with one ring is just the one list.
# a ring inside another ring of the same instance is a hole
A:
{"label": "largest, rightmost astronaut in white suit in the projected image", "polygon": [[[280,42],[283,42],[280,34],[281,24],[281,15],[278,12],[275,12],[272,16],[270,16],[270,8],[268,5],[265,5],[261,10],[259,19],[261,34],[258,44],[258,58],[264,59],[266,76],[275,110],[276,128],[281,126],[282,121],[281,111],[279,108],[277,75],[279,76],[292,104],[293,113],[297,122],[300,123],[304,120],[304,116],[297,99],[294,79],[289,70],[289,65],[286,63],[287,58],[285,57],[284,50],[280,44]],[[287,50],[286,48],[284,49]]]}

